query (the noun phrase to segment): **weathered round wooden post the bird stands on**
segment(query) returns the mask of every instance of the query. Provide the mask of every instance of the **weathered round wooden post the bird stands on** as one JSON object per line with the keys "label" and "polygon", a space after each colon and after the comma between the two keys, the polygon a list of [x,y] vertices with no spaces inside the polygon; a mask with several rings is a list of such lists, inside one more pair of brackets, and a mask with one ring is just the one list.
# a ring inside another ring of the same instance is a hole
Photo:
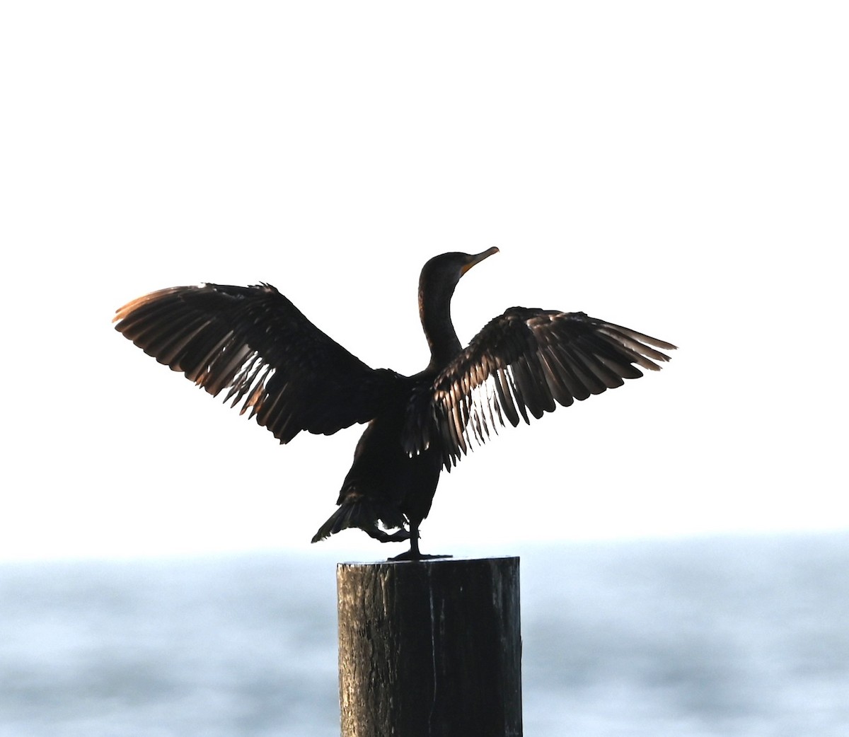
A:
{"label": "weathered round wooden post the bird stands on", "polygon": [[342,737],[520,737],[519,559],[340,563]]}

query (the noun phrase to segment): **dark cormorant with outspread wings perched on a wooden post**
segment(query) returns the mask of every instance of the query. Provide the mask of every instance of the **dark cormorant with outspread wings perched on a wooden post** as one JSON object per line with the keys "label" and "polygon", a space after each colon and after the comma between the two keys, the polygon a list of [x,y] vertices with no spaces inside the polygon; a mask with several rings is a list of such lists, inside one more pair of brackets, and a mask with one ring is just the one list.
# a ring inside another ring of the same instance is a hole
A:
{"label": "dark cormorant with outspread wings perched on a wooden post", "polygon": [[[313,325],[271,284],[172,287],[139,297],[115,315],[115,329],[182,371],[281,443],[301,430],[330,435],[368,423],[330,516],[315,543],[359,527],[382,543],[409,540],[393,560],[419,560],[419,525],[442,468],[499,425],[539,418],[636,379],[669,360],[675,346],[583,312],[526,307],[486,324],[465,349],[451,322],[451,298],[475,256],[445,253],[424,264],[419,314],[430,346],[424,371],[371,369]],[[394,531],[394,532],[389,532]]]}

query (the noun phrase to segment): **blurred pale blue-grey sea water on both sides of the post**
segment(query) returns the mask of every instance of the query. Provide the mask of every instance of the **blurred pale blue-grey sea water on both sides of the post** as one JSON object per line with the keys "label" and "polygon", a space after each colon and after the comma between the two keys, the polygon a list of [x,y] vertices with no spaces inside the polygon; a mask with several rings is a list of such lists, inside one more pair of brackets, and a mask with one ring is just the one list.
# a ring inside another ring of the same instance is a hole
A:
{"label": "blurred pale blue-grey sea water on both sides of the post", "polygon": [[[849,734],[849,535],[504,553],[528,737]],[[338,735],[334,563],[0,565],[0,737]]]}

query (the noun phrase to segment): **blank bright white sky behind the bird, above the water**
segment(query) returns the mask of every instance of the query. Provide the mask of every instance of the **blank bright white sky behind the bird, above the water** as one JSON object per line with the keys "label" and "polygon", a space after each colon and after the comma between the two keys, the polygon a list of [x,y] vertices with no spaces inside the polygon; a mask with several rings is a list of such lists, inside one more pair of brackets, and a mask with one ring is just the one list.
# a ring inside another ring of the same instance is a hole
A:
{"label": "blank bright white sky behind the bird, above the water", "polygon": [[[268,281],[374,367],[514,304],[680,346],[444,475],[423,549],[849,527],[844,3],[7,3],[0,559],[309,549],[358,428],[281,447],[115,333]],[[358,532],[340,559],[381,547]]]}

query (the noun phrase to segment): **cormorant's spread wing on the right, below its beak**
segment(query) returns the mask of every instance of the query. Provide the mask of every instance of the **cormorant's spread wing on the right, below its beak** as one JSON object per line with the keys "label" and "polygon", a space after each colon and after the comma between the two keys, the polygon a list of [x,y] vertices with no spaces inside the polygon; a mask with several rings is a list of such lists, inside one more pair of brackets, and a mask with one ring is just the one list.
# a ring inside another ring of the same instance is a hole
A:
{"label": "cormorant's spread wing on the right, below its beak", "polygon": [[656,371],[675,346],[583,312],[511,307],[493,319],[425,391],[413,397],[405,434],[408,453],[432,443],[446,468],[498,426],[540,418],[625,379]]}

